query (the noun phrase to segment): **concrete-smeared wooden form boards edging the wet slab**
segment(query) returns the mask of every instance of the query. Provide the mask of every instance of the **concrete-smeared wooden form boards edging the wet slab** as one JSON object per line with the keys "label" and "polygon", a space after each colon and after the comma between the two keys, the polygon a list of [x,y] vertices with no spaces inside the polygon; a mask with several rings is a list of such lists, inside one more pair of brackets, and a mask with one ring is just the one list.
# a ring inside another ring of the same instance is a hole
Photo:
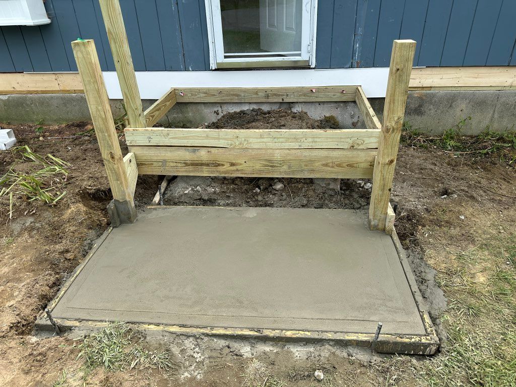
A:
{"label": "concrete-smeared wooden form boards edging the wet slab", "polygon": [[[166,206],[149,206],[166,207]],[[56,307],[59,300],[68,291],[73,281],[77,278],[82,269],[87,265],[93,254],[100,248],[111,232],[112,227],[108,228],[104,234],[98,239],[88,253],[86,259],[76,269],[73,275],[65,282],[61,291],[49,303],[49,310]],[[179,325],[157,325],[157,324],[141,324],[128,322],[135,330],[143,331],[163,331],[171,334],[179,334],[186,336],[210,335],[224,336],[235,338],[260,338],[262,340],[274,341],[322,341],[329,340],[346,346],[357,346],[364,348],[374,348],[378,353],[399,353],[399,354],[420,354],[431,355],[439,349],[439,338],[435,333],[430,316],[421,307],[423,298],[417,288],[415,278],[412,275],[410,266],[406,260],[405,253],[401,248],[399,239],[394,231],[391,236],[396,251],[400,259],[401,266],[405,272],[405,276],[412,291],[418,311],[420,312],[423,325],[427,332],[426,335],[391,335],[380,334],[378,340],[374,341],[374,334],[356,333],[356,332],[323,332],[323,331],[299,331],[299,330],[279,330],[279,329],[245,329],[245,328],[212,328],[212,327],[188,327]],[[414,290],[415,289],[415,290]],[[98,330],[109,323],[108,321],[98,320],[80,320],[80,319],[54,319],[61,332],[72,329]],[[35,329],[40,331],[54,331],[54,328],[42,311],[39,313]]]}

